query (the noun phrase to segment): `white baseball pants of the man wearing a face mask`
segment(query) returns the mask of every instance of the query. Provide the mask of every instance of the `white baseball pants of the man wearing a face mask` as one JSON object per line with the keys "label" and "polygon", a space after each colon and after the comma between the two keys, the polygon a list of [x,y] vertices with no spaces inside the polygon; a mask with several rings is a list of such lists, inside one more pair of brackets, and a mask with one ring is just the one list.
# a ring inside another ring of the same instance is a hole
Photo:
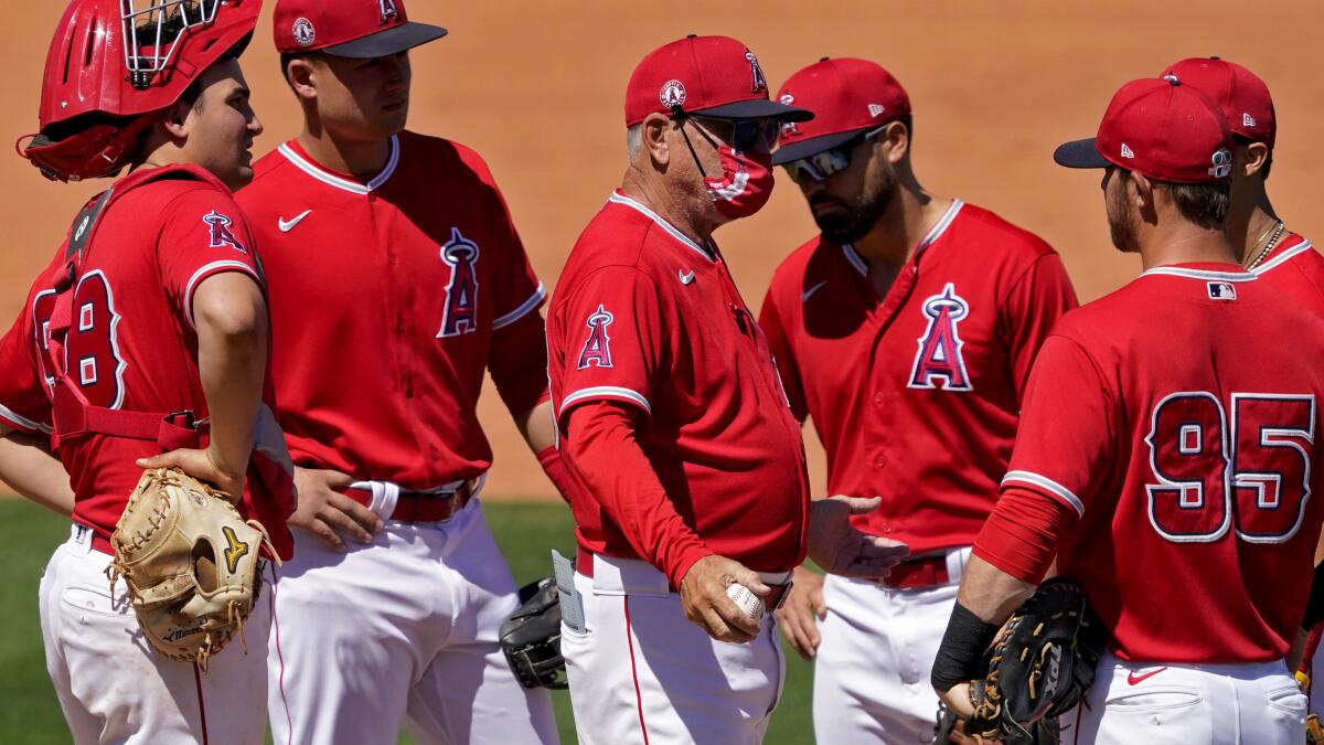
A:
{"label": "white baseball pants of the man wearing a face mask", "polygon": [[716,642],[642,561],[594,557],[575,574],[585,630],[561,624],[581,745],[751,745],[781,696],[773,614],[748,644]]}

